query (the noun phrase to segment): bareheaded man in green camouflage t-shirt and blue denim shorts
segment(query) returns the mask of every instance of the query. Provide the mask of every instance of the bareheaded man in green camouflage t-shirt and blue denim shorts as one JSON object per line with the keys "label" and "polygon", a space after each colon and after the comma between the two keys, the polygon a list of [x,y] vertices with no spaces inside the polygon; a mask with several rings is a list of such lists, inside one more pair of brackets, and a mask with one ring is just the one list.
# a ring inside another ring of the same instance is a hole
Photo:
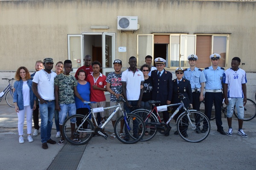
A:
{"label": "bareheaded man in green camouflage t-shirt and blue denim shorts", "polygon": [[[59,74],[54,79],[55,87],[55,109],[59,111],[59,126],[62,129],[65,119],[68,116],[76,114],[75,95],[81,101],[84,101],[79,93],[77,92],[76,86],[77,81],[73,75],[70,75],[72,69],[72,62],[70,60],[64,61],[64,73]],[[73,122],[72,122],[73,121]],[[76,120],[71,120],[71,133],[75,131]],[[79,142],[79,139],[71,136],[74,141]],[[58,142],[59,145],[64,144],[64,135],[61,131],[61,140]]]}

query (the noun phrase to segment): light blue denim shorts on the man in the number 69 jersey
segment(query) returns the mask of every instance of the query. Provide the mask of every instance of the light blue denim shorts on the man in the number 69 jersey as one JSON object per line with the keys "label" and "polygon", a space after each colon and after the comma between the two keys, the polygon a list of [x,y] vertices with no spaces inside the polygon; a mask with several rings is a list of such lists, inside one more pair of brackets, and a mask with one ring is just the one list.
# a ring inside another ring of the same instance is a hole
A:
{"label": "light blue denim shorts on the man in the number 69 jersey", "polygon": [[236,111],[239,119],[244,119],[244,98],[229,98],[229,104],[227,105],[227,117],[232,118],[234,106],[236,105]]}

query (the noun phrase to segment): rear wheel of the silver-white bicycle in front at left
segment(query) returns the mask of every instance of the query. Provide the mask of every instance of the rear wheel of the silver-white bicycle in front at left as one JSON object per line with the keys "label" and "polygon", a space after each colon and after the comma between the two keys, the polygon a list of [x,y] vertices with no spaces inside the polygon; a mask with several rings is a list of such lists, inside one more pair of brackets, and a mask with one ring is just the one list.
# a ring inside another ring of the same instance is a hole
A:
{"label": "rear wheel of the silver-white bicycle in front at left", "polygon": [[[62,132],[65,140],[73,145],[86,144],[90,141],[94,132],[93,122],[88,118],[84,119],[84,115],[72,115],[64,121]],[[85,137],[79,138],[80,133],[86,133]],[[74,141],[74,138],[79,139],[79,142]]]}

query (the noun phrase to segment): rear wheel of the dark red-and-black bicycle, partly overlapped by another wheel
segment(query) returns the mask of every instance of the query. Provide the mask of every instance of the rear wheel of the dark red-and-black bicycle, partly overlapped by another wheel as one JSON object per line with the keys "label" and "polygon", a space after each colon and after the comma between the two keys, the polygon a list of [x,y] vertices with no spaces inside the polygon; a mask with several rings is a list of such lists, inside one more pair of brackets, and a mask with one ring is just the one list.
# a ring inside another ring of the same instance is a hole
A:
{"label": "rear wheel of the dark red-and-black bicycle, partly overlapped by another wheel", "polygon": [[156,115],[151,113],[148,117],[148,113],[150,113],[150,110],[147,109],[137,109],[131,113],[139,115],[141,118],[143,118],[143,121],[145,122],[145,134],[140,141],[149,141],[151,138],[153,138],[154,135],[156,135],[157,133],[157,126],[151,123],[159,122]]}

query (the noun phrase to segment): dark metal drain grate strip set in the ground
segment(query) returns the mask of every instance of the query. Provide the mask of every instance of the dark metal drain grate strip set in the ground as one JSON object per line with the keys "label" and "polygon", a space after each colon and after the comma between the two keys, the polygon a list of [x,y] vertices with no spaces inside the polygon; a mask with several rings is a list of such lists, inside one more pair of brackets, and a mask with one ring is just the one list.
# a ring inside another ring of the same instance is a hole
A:
{"label": "dark metal drain grate strip set in the ground", "polygon": [[72,145],[66,143],[47,170],[76,170],[86,147],[87,144]]}

